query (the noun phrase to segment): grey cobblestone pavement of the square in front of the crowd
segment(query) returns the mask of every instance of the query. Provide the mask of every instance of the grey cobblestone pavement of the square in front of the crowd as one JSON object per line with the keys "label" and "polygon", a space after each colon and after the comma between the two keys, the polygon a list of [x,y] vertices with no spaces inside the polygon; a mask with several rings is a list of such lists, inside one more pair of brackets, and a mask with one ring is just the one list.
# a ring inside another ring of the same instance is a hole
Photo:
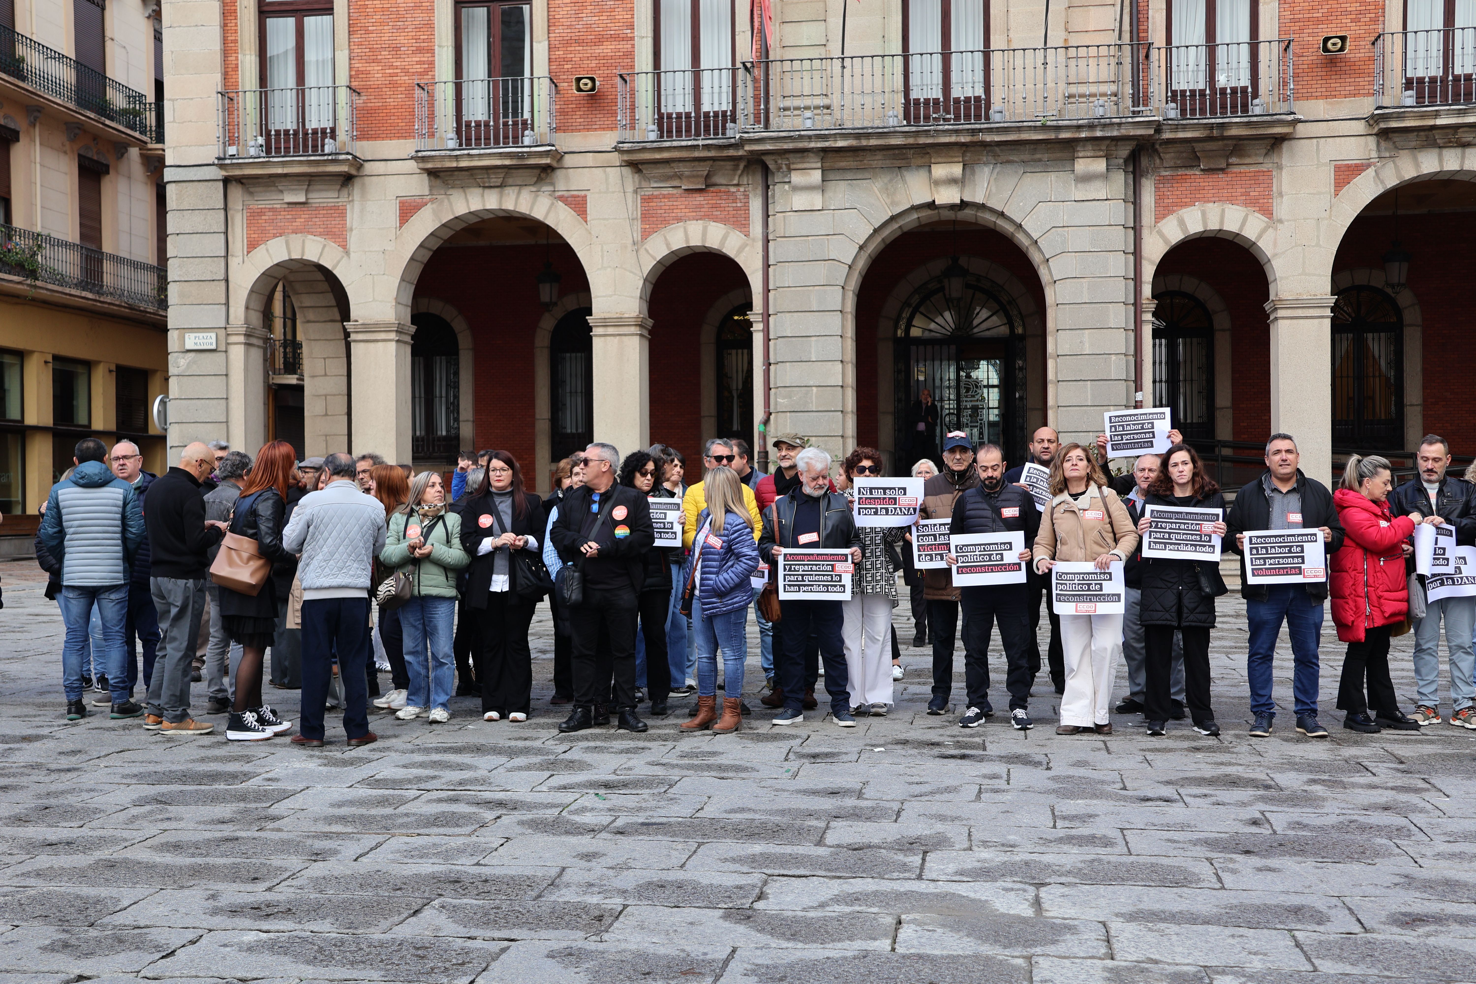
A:
{"label": "grey cobblestone pavement of the square in front of the crowd", "polygon": [[677,735],[675,701],[646,735],[561,738],[545,617],[527,724],[456,701],[450,724],[378,717],[362,749],[329,718],[307,751],[66,724],[56,608],[30,564],[0,575],[6,984],[1473,980],[1476,736],[1337,727],[1327,631],[1331,739],[1289,713],[1249,738],[1231,599],[1219,739],[1129,717],[1058,738],[1048,685],[1033,732],[962,730],[922,713],[914,649],[896,713],[855,730],[759,708]]}

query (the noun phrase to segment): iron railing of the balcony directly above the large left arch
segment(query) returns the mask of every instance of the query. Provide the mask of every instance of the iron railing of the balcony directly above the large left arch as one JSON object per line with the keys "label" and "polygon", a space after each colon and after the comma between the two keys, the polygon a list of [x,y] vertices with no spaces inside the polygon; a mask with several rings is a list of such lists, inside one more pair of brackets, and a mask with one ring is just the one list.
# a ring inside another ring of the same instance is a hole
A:
{"label": "iron railing of the balcony directly above the large left arch", "polygon": [[548,75],[415,84],[416,150],[554,143],[558,84]]}

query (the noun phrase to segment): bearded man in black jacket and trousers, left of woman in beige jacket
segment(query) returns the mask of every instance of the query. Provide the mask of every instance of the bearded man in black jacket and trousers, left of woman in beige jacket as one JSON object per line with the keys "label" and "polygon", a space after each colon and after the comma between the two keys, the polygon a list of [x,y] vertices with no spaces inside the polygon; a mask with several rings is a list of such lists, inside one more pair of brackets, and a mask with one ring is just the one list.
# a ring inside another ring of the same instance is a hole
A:
{"label": "bearded man in black jacket and trousers, left of woman in beige jacket", "polygon": [[[1023,533],[1021,561],[1030,559],[1035,534],[1041,530],[1041,510],[1035,499],[1020,485],[1005,481],[1005,453],[998,444],[980,444],[974,451],[979,485],[965,491],[948,531]],[[949,564],[953,558],[949,556]],[[999,642],[1005,649],[1005,689],[1010,690],[1010,720],[1017,730],[1035,727],[1030,707],[1030,595],[1029,586],[990,584],[962,587],[964,609],[964,686],[968,689],[968,710],[958,718],[959,727],[979,727],[995,713],[989,704],[989,636],[999,623]],[[1039,605],[1036,606],[1039,608]]]}

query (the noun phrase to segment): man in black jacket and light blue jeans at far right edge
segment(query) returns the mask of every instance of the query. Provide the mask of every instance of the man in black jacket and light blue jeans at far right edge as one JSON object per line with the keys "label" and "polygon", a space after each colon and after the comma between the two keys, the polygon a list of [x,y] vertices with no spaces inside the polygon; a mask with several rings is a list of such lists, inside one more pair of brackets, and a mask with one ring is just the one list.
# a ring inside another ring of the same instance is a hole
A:
{"label": "man in black jacket and light blue jeans at far right edge", "polygon": [[[1451,465],[1451,446],[1444,437],[1426,434],[1420,441],[1414,463],[1418,478],[1407,481],[1389,494],[1389,507],[1396,516],[1417,512],[1421,516],[1441,516],[1455,527],[1457,546],[1476,541],[1476,516],[1472,515],[1472,485],[1460,478],[1449,478],[1445,469]],[[1414,561],[1410,561],[1414,571]],[[1424,584],[1424,578],[1420,578]],[[1420,724],[1441,723],[1441,621],[1445,621],[1445,652],[1451,665],[1451,724],[1476,730],[1476,686],[1472,673],[1476,656],[1472,654],[1472,630],[1476,628],[1476,597],[1442,597],[1426,600],[1424,618],[1414,623],[1414,683],[1418,690],[1418,707],[1414,720]]]}

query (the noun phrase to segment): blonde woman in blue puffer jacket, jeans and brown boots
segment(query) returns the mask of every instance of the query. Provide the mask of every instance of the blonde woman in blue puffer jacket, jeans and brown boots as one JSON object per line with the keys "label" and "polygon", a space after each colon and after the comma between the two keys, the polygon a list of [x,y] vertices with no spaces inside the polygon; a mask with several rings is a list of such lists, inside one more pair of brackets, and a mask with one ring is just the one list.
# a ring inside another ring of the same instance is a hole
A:
{"label": "blonde woman in blue puffer jacket, jeans and brown boots", "polygon": [[[683,584],[697,567],[701,614],[697,630],[697,716],[682,724],[695,732],[738,730],[742,721],[742,667],[748,659],[750,577],[759,569],[753,516],[742,499],[742,484],[731,468],[711,468],[703,477],[707,507],[697,516],[697,538],[686,562]],[[723,716],[717,718],[717,649],[723,651]]]}

